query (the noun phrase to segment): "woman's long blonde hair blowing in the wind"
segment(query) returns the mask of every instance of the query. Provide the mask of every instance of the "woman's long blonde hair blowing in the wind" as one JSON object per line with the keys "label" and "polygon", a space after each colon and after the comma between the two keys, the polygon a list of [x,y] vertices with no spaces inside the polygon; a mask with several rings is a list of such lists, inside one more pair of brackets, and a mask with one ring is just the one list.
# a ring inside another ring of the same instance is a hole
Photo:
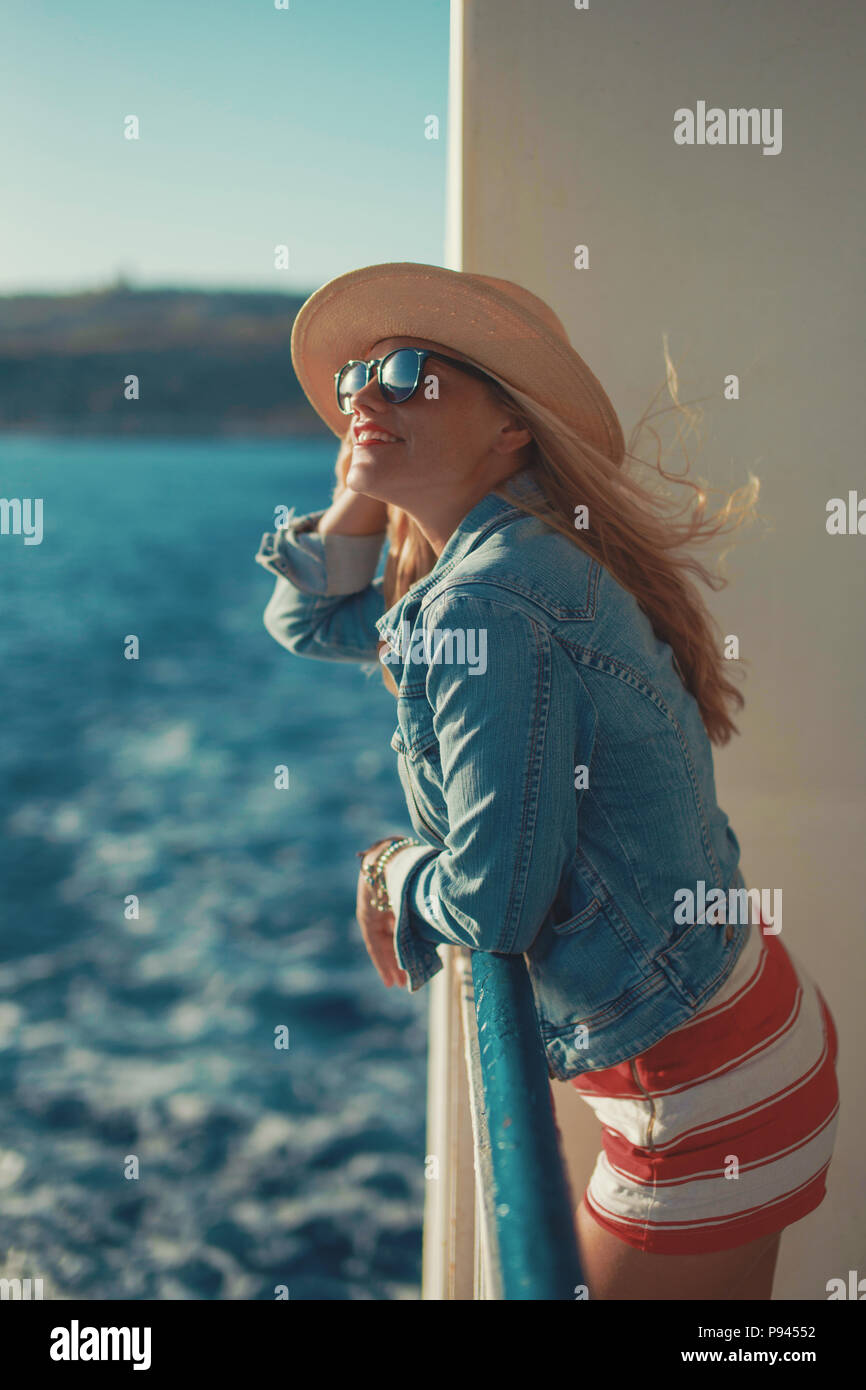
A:
{"label": "woman's long blonde hair blowing in the wind", "polygon": [[[712,489],[687,477],[691,460],[685,452],[684,432],[680,430],[677,434],[685,453],[685,473],[667,473],[663,468],[662,457],[666,450],[651,421],[673,410],[685,421],[688,434],[696,431],[701,416],[701,411],[681,404],[677,399],[677,374],[667,352],[667,342],[664,342],[664,363],[666,381],[632,430],[621,467],[588,445],[555,411],[491,373],[492,381],[489,385],[485,384],[491,398],[516,418],[518,427],[530,430],[532,435],[531,443],[520,457],[532,468],[544,500],[535,505],[525,496],[512,495],[507,478],[492,491],[566,535],[603,564],[623,588],[634,595],[656,637],[670,645],[680,678],[698,702],[708,737],[712,742],[724,745],[731,734],[740,733],[730,716],[730,708],[741,709],[745,701],[726,674],[727,660],[721,652],[720,630],[691,575],[696,575],[713,591],[726,588],[728,581],[717,571],[708,570],[688,548],[713,541],[737,531],[744,523],[753,521],[759,482],[749,475],[746,484],[737,488],[716,512],[708,516],[706,499]],[[488,370],[481,363],[475,366]],[[653,411],[664,386],[673,404]],[[635,452],[644,430],[649,430],[656,439],[656,457],[652,463]],[[343,484],[350,457],[350,435],[348,435],[338,461],[338,480],[342,475]],[[520,461],[516,464],[521,466]],[[652,480],[652,485],[645,486],[638,482],[634,475],[635,466],[656,471],[657,477]],[[692,498],[680,510],[673,507],[670,484],[680,484],[692,491]],[[589,525],[585,530],[575,530],[577,505],[588,507]],[[685,507],[688,514],[680,520]],[[409,513],[392,505],[388,505],[388,542],[384,573],[385,609],[396,603],[417,580],[430,574],[436,563],[436,555],[417,523]],[[382,645],[379,642],[379,649]],[[382,664],[382,680],[392,692],[396,692],[393,677],[385,664]]]}

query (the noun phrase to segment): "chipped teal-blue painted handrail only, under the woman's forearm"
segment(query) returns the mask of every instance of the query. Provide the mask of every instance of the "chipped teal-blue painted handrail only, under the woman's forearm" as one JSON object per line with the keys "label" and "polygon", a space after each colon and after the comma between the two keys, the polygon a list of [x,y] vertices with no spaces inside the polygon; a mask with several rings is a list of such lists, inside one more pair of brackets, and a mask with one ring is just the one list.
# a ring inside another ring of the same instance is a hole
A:
{"label": "chipped teal-blue painted handrail only, under the woman's forearm", "polygon": [[471,963],[499,1297],[574,1300],[584,1280],[573,1198],[525,962],[473,951]]}

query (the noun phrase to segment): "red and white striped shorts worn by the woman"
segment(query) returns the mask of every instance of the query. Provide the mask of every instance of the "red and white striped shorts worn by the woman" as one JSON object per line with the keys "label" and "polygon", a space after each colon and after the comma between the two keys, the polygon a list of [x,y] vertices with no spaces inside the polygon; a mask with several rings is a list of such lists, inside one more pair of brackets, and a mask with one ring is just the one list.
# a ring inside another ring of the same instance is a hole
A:
{"label": "red and white striped shorts worn by the woman", "polygon": [[688,1023],[573,1080],[602,1122],[584,1202],[635,1250],[731,1250],[826,1195],[835,1024],[802,963],[762,929],[752,926],[731,974]]}

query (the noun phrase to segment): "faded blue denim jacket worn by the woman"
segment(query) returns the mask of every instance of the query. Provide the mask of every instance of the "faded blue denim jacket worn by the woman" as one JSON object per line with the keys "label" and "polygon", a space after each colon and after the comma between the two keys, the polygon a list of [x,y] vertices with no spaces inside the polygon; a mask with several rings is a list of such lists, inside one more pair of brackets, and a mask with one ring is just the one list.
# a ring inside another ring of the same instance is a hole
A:
{"label": "faded blue denim jacket worn by the woman", "polygon": [[[506,488],[539,496],[530,470]],[[671,648],[603,566],[496,492],[388,612],[385,534],[322,537],[320,516],[263,537],[264,623],[303,656],[386,660],[398,684],[391,746],[423,844],[385,876],[410,991],[442,942],[520,952],[552,1077],[635,1058],[721,987],[749,930],[742,908],[699,910],[745,884]]]}

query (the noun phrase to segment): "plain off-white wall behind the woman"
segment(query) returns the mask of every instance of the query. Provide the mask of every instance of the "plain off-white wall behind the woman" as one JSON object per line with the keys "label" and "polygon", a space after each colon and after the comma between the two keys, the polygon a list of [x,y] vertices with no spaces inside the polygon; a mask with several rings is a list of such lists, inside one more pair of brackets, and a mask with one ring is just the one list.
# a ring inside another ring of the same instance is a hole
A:
{"label": "plain off-white wall behind the woman", "polygon": [[[626,436],[663,379],[705,402],[695,471],[762,481],[763,530],[709,595],[751,663],[716,753],[746,881],[783,890],[784,940],[840,1027],[842,1111],[824,1204],[791,1226],[777,1298],[866,1275],[862,1198],[866,535],[826,505],[860,488],[863,7],[803,0],[452,3],[448,264],[557,311]],[[461,111],[460,111],[461,99]],[[674,110],[783,110],[783,149],[677,146]],[[573,268],[587,243],[589,268]],[[740,375],[726,402],[723,378]],[[573,1182],[598,1127],[573,1091]]]}

